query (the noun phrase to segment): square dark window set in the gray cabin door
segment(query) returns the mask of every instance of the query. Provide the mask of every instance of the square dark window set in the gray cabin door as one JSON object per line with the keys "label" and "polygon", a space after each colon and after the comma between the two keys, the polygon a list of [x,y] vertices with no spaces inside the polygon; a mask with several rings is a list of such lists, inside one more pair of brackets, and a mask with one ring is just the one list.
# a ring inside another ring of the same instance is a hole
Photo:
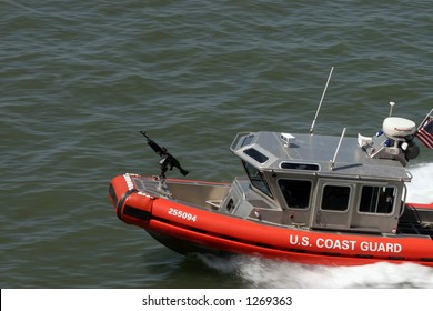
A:
{"label": "square dark window set in the gray cabin door", "polygon": [[351,188],[345,185],[325,185],[322,195],[322,210],[346,211]]}

